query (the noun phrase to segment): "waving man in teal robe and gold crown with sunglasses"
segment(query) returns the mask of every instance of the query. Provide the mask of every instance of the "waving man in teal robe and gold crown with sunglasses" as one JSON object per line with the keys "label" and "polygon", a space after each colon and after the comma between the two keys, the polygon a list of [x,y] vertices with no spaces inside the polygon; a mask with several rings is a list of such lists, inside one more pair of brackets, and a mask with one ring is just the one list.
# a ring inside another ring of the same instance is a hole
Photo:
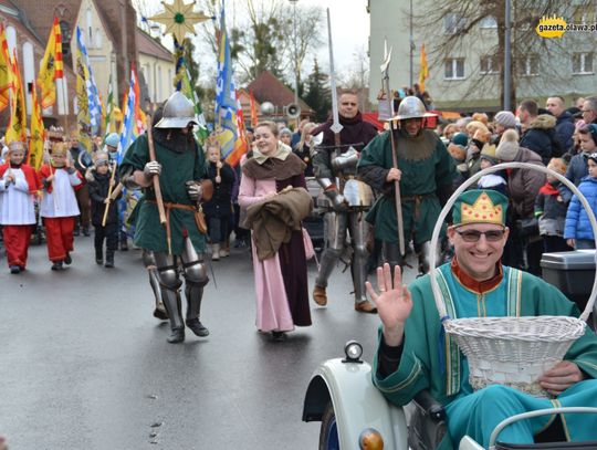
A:
{"label": "waving man in teal robe and gold crown with sunglasses", "polygon": [[[556,287],[500,260],[507,239],[507,198],[492,190],[460,195],[452,210],[448,238],[454,259],[438,268],[438,283],[450,318],[489,316],[578,316],[576,305]],[[538,384],[547,397],[534,397],[502,385],[473,390],[469,364],[452,337],[446,336],[431,291],[430,275],[408,287],[396,266],[377,269],[379,292],[367,283],[381,326],[373,380],[391,402],[407,405],[428,389],[446,411],[448,433],[440,449],[470,436],[488,448],[491,432],[507,417],[558,406],[597,407],[597,337],[587,327],[556,366]],[[533,442],[556,432],[564,440],[597,439],[597,416],[541,416],[506,427],[500,440]]]}

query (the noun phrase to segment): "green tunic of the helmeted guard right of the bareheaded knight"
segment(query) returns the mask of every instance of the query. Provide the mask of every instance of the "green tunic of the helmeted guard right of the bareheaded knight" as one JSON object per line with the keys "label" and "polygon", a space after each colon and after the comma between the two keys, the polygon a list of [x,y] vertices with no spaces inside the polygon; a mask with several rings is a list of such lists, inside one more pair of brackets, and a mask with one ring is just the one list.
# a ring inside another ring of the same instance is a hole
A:
{"label": "green tunic of the helmeted guard right of the bareheaded knight", "polygon": [[[422,243],[431,240],[433,227],[441,211],[437,192],[451,190],[457,171],[452,157],[433,132],[425,129],[413,139],[419,140],[422,151],[413,151],[415,147],[410,144],[412,140],[400,135],[397,137],[398,168],[402,172],[400,179],[402,222],[405,242],[413,239],[415,243]],[[358,167],[366,166],[384,169],[394,167],[389,133],[377,136],[363,149]],[[394,184],[385,182],[385,185],[387,188],[385,190],[394,192],[391,188]],[[415,196],[421,196],[418,208],[413,200]],[[396,201],[392,196],[379,196],[366,219],[375,226],[376,239],[398,242]]]}

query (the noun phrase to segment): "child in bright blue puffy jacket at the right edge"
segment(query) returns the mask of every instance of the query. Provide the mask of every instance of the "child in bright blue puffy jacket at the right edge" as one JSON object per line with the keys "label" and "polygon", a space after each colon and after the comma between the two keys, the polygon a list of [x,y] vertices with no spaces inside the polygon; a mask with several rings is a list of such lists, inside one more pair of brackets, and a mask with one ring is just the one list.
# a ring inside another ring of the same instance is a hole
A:
{"label": "child in bright blue puffy jacket at the right edge", "polygon": [[[588,200],[593,212],[597,213],[597,153],[588,155],[587,165],[588,176],[580,180],[578,190]],[[564,239],[575,249],[595,249],[595,238],[587,211],[576,196],[573,196],[566,213]]]}

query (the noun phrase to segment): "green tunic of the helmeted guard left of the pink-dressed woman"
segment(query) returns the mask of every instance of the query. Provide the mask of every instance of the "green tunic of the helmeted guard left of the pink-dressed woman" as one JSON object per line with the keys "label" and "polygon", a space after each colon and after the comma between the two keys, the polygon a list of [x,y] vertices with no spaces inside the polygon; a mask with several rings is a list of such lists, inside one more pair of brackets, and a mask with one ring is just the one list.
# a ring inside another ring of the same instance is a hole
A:
{"label": "green tunic of the helmeted guard left of the pink-dressed woman", "polygon": [[[203,151],[199,145],[197,149],[187,149],[178,153],[154,142],[156,149],[156,159],[161,164],[161,174],[159,176],[159,187],[164,202],[193,205],[185,182],[189,180],[200,180],[206,177],[206,164]],[[121,164],[121,174],[129,169],[143,170],[149,163],[149,147],[147,135],[139,136],[126,151]],[[166,239],[166,227],[159,223],[159,212],[157,205],[154,203],[156,195],[153,186],[145,188],[145,200],[137,211],[135,245],[155,252],[168,252]],[[195,222],[192,211],[171,209],[170,210],[170,238],[172,254],[182,253],[185,234],[190,238],[197,252],[205,252],[206,237],[199,232]]]}

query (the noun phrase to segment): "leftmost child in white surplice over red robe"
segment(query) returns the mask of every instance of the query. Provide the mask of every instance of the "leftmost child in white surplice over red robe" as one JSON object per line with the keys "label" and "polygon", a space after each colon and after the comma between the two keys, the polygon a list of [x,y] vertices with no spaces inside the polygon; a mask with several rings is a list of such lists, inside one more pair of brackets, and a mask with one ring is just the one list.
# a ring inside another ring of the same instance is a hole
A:
{"label": "leftmost child in white surplice over red robe", "polygon": [[0,166],[0,224],[10,273],[25,270],[35,224],[34,193],[41,188],[38,174],[24,164],[24,144],[9,144],[7,163]]}

